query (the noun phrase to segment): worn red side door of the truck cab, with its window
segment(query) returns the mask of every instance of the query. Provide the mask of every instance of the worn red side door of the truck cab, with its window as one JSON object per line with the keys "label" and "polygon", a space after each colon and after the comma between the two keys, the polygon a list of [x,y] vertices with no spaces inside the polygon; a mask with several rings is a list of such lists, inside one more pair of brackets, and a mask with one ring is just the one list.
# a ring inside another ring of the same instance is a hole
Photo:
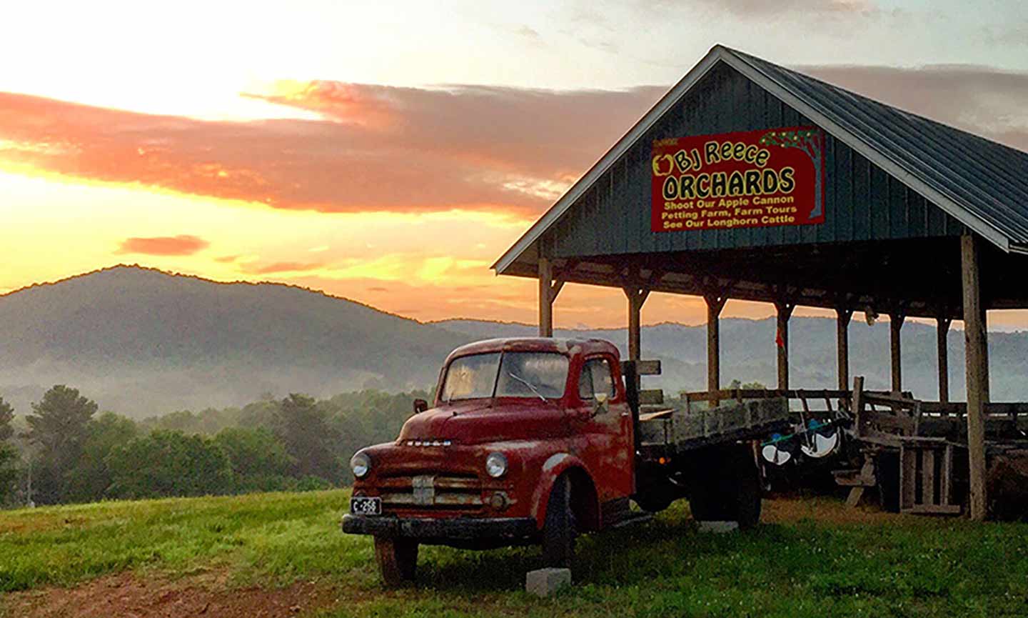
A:
{"label": "worn red side door of the truck cab, with its window", "polygon": [[[624,394],[615,387],[613,366],[613,358],[607,355],[585,359],[573,422],[573,450],[589,467],[601,503],[634,492],[632,413]],[[605,404],[597,406],[601,399],[597,396],[605,396]]]}

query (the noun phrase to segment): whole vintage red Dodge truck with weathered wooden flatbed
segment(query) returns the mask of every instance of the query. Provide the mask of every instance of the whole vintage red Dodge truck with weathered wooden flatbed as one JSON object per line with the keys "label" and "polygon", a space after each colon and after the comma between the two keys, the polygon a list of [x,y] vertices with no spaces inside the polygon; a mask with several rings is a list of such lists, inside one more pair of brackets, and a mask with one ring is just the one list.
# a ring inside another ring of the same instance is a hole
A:
{"label": "whole vintage red Dodge truck with weathered wooden flatbed", "polygon": [[[599,339],[454,350],[433,406],[416,400],[395,442],[354,455],[343,532],[372,535],[382,580],[398,585],[413,579],[419,544],[541,543],[549,566],[565,566],[577,535],[649,518],[678,498],[697,519],[756,525],[761,483],[746,440],[787,427],[787,404],[647,412],[638,374],[657,366],[622,364]],[[644,399],[659,402],[652,393]]]}

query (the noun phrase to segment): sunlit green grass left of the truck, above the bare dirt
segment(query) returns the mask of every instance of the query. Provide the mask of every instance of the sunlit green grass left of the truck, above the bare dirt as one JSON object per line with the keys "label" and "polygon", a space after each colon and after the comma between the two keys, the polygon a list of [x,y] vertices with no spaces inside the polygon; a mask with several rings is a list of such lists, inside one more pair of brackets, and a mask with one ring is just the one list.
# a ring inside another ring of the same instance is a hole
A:
{"label": "sunlit green grass left of the truck, above the bare dirt", "polygon": [[348,492],[144,500],[0,512],[0,591],[125,570],[225,569],[281,582],[371,558],[339,532]]}

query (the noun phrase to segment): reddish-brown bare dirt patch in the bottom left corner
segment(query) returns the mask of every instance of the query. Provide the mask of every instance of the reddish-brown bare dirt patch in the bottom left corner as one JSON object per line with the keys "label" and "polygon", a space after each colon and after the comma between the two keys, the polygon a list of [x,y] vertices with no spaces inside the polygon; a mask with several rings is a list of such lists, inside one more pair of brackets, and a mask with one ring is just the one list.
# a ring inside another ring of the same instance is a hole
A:
{"label": "reddish-brown bare dirt patch in the bottom left corner", "polygon": [[179,580],[143,579],[131,573],[102,577],[74,588],[43,588],[7,595],[0,616],[26,618],[293,618],[337,601],[318,582],[284,588],[226,589],[210,575]]}

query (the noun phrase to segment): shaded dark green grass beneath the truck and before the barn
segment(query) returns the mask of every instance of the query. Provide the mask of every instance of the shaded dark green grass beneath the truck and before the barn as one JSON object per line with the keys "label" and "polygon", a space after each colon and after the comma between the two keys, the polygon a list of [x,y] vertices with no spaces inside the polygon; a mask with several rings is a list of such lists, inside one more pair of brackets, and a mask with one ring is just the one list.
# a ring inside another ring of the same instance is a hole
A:
{"label": "shaded dark green grass beneath the truck and before the barn", "polygon": [[[698,532],[688,507],[675,504],[649,523],[580,538],[575,586],[553,599],[521,591],[525,573],[542,567],[538,547],[426,547],[418,585],[397,595],[395,605],[368,611],[518,618],[557,610],[711,618],[1028,616],[1026,531],[1024,524],[876,517],[839,524],[804,516],[713,535]],[[417,608],[424,612],[411,613]]]}

